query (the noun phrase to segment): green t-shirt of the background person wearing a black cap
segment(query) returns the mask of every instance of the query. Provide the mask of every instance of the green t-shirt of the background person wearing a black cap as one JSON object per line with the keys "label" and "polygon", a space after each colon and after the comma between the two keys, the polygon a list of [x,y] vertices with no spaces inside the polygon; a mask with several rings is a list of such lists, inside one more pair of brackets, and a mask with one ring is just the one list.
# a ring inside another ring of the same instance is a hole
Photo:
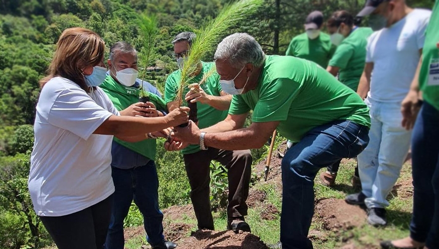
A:
{"label": "green t-shirt of the background person wearing a black cap", "polygon": [[319,37],[311,40],[303,33],[291,40],[285,55],[313,61],[326,69],[335,49],[328,34],[320,32]]}

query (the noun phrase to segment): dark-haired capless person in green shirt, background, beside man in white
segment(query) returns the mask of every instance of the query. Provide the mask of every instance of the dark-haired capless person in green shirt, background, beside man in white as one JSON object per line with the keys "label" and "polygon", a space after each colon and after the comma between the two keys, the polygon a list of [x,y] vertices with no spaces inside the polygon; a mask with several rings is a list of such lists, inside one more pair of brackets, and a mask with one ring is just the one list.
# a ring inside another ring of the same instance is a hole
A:
{"label": "dark-haired capless person in green shirt, background, beside man in white", "polygon": [[[334,55],[329,61],[326,71],[338,80],[357,92],[358,83],[366,64],[367,39],[372,34],[370,27],[357,27],[354,25],[354,17],[346,10],[336,11],[328,19],[327,28],[331,35],[332,44],[337,46]],[[328,166],[327,171],[320,174],[322,183],[333,186],[337,176],[340,162]],[[355,167],[355,175],[352,177],[352,185],[361,187],[358,166]]]}

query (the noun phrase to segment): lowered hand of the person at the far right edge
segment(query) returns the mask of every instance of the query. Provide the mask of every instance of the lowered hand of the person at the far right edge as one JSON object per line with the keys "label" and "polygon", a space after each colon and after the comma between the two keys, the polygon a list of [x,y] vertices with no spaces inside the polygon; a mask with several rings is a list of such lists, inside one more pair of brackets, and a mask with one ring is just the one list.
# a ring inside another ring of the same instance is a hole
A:
{"label": "lowered hand of the person at the far right edge", "polygon": [[418,97],[418,92],[410,90],[401,104],[401,113],[403,114],[403,121],[401,124],[404,128],[407,130],[413,129],[420,109],[421,102]]}

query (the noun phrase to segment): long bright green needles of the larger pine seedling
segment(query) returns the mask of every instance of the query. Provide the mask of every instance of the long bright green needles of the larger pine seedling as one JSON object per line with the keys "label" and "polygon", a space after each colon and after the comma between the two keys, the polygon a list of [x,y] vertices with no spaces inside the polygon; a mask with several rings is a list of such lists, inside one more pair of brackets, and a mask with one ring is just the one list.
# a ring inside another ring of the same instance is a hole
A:
{"label": "long bright green needles of the larger pine seedling", "polygon": [[197,64],[200,60],[216,48],[219,39],[228,30],[256,12],[257,8],[262,5],[262,2],[263,0],[238,0],[232,4],[227,4],[217,18],[208,21],[200,29],[181,69],[181,83],[176,96],[179,106],[183,102],[183,90],[195,77],[193,73],[197,70]]}

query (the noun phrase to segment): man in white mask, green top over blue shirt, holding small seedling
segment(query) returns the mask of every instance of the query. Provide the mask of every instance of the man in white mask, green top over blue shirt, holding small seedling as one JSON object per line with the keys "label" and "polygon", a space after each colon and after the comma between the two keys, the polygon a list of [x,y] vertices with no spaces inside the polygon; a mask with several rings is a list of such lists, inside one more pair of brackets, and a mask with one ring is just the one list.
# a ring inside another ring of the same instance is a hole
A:
{"label": "man in white mask, green top over blue shirt, holding small seedling", "polygon": [[[150,101],[140,103],[137,79],[137,52],[126,42],[117,42],[110,48],[108,59],[110,71],[101,88],[107,94],[121,115],[163,117],[165,102],[160,93],[148,82],[143,82],[144,90],[149,93]],[[157,108],[156,108],[157,107]],[[124,112],[131,112],[125,114]],[[174,249],[176,244],[165,241],[163,236],[163,214],[159,209],[159,179],[154,163],[156,157],[155,136],[165,136],[164,132],[148,133],[139,142],[125,142],[114,138],[111,147],[111,169],[115,192],[110,226],[108,228],[105,249],[123,249],[123,224],[132,201],[139,207],[144,218],[147,241],[153,249]]]}

